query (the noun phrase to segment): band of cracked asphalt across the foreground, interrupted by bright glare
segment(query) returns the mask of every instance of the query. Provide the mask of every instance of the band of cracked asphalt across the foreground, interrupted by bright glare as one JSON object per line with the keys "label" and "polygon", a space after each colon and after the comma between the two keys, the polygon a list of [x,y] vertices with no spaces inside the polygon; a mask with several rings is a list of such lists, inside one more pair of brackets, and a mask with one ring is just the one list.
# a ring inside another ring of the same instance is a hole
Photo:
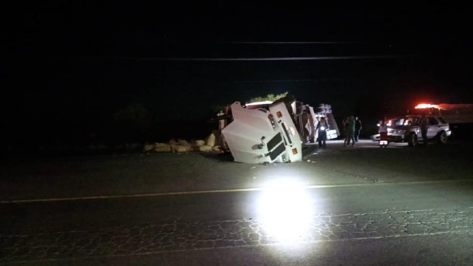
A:
{"label": "band of cracked asphalt across the foreground, interrupted by bright glare", "polygon": [[[473,207],[358,214],[319,214],[298,242],[379,239],[473,232]],[[255,220],[180,222],[32,235],[2,235],[0,262],[94,256],[124,256],[177,250],[277,244]]]}

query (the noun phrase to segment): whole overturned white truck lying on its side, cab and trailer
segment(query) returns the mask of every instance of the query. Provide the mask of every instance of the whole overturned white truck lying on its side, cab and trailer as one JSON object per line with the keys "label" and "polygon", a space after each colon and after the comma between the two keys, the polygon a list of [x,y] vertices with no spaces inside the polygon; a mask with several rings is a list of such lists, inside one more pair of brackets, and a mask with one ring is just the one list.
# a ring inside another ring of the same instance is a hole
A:
{"label": "whole overturned white truck lying on its side, cab and trailer", "polygon": [[317,140],[315,128],[320,118],[328,121],[327,139],[339,134],[330,106],[321,104],[318,109],[314,111],[293,96],[243,106],[235,102],[218,119],[221,142],[237,162],[301,161],[306,145]]}

